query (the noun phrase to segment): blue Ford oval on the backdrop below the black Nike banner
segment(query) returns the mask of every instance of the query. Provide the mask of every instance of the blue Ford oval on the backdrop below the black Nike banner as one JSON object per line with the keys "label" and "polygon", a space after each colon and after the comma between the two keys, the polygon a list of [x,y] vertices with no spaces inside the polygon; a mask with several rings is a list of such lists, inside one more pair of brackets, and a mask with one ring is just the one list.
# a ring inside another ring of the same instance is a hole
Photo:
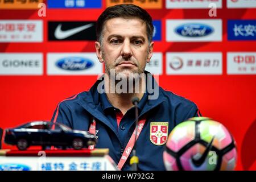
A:
{"label": "blue Ford oval on the backdrop below the black Nike banner", "polygon": [[84,70],[93,66],[93,61],[84,57],[65,57],[56,62],[56,66],[71,71]]}

